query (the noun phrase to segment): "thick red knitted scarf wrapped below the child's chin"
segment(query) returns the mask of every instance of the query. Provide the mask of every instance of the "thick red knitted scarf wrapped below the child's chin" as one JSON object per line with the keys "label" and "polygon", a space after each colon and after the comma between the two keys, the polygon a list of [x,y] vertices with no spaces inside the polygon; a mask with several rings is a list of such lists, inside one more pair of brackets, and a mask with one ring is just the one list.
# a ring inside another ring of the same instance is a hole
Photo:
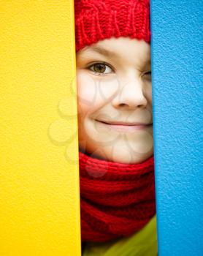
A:
{"label": "thick red knitted scarf wrapped below the child's chin", "polygon": [[121,164],[79,152],[82,241],[110,241],[140,230],[156,213],[153,157]]}

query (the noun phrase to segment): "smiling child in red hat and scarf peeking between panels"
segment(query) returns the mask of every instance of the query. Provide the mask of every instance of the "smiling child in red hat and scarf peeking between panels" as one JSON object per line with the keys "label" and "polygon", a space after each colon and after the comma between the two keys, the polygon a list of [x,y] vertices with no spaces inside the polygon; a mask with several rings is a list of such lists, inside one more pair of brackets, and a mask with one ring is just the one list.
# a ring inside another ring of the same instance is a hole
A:
{"label": "smiling child in red hat and scarf peeking between panels", "polygon": [[74,0],[83,255],[157,255],[147,0]]}

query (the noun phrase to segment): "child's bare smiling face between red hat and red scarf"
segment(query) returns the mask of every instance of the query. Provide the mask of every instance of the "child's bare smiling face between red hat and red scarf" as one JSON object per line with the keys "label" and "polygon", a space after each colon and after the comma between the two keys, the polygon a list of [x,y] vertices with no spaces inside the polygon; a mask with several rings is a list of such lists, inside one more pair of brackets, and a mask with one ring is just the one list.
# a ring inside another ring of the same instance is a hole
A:
{"label": "child's bare smiling face between red hat and red scarf", "polygon": [[112,37],[77,52],[80,149],[91,157],[139,163],[153,155],[150,45]]}

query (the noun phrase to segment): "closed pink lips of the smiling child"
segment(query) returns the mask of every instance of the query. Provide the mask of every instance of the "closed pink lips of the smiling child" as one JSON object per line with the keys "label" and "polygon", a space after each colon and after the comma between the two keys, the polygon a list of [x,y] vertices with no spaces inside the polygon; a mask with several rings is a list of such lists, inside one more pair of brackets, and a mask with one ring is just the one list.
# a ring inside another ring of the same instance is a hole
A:
{"label": "closed pink lips of the smiling child", "polygon": [[152,124],[144,124],[144,123],[126,123],[123,121],[98,121],[100,124],[111,128],[111,129],[116,129],[120,132],[134,132],[135,130],[142,130],[146,129],[147,127],[151,127]]}

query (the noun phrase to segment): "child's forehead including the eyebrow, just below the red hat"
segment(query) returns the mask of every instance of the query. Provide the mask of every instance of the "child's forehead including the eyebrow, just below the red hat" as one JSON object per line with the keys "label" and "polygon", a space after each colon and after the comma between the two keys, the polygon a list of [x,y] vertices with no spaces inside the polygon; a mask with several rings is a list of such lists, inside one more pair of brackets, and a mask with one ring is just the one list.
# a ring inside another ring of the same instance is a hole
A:
{"label": "child's forehead including the eyebrow, just below the red hat", "polygon": [[104,56],[108,59],[150,63],[150,45],[144,40],[112,37],[86,46],[80,50],[80,55]]}

